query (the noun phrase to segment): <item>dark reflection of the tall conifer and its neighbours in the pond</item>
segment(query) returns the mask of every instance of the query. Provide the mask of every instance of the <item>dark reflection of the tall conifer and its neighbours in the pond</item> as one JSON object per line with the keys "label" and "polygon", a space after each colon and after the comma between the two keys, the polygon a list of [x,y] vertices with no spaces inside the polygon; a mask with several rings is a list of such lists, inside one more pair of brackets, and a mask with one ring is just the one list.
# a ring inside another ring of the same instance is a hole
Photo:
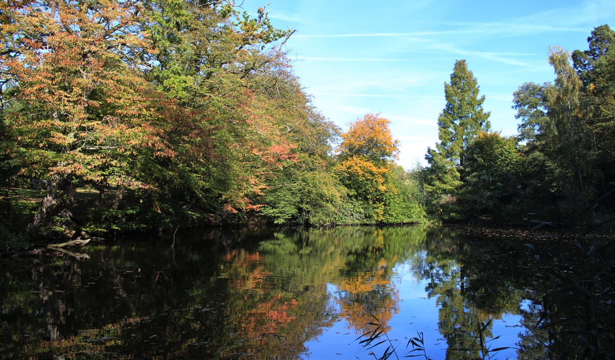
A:
{"label": "dark reflection of the tall conifer and its neighbours in the pond", "polygon": [[515,279],[510,269],[520,263],[514,251],[502,248],[506,250],[502,243],[443,237],[431,243],[417,264],[429,281],[428,296],[437,299],[438,327],[448,345],[446,359],[482,358],[481,342],[501,335],[493,334],[490,319],[519,313],[522,272]]}

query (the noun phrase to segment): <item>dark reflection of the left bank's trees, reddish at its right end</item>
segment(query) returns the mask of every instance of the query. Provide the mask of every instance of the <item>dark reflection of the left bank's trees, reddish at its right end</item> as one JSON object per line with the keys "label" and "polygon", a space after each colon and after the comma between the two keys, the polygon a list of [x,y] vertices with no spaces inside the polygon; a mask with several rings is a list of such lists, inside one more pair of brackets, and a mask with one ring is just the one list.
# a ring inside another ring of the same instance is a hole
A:
{"label": "dark reflection of the left bank's trees, reddish at its right end", "polygon": [[173,262],[167,248],[124,244],[90,246],[89,263],[2,262],[0,353],[294,359],[331,325],[324,285],[285,288],[266,256],[229,241],[221,250],[176,244]]}

